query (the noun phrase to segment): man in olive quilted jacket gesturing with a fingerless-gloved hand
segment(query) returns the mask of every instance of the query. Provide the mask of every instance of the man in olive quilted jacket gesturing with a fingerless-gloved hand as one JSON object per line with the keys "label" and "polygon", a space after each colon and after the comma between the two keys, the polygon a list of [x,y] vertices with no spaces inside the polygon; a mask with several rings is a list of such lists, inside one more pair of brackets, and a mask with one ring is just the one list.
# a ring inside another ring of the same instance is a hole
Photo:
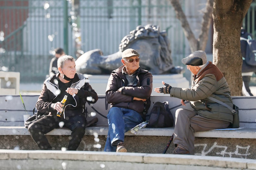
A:
{"label": "man in olive quilted jacket gesturing with a fingerless-gloved hand", "polygon": [[193,73],[191,88],[157,87],[158,93],[170,94],[171,97],[190,101],[192,110],[177,109],[173,143],[174,154],[194,155],[194,133],[212,129],[227,128],[233,122],[231,111],[207,97],[211,96],[233,107],[233,101],[227,81],[222,72],[211,61],[207,62],[204,51],[196,51],[182,59]]}

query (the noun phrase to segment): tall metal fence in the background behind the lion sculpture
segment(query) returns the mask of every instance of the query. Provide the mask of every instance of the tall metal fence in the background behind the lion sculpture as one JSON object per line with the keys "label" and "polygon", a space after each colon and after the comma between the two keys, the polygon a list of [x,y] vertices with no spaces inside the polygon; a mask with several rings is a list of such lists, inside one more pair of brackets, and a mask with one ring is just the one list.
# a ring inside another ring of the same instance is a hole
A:
{"label": "tall metal fence in the background behind the lion sculpture", "polygon": [[[254,8],[246,22],[254,22]],[[0,70],[20,72],[21,83],[43,82],[55,48],[75,58],[77,49],[110,55],[147,24],[167,31],[173,64],[181,65],[186,39],[169,0],[0,0]]]}

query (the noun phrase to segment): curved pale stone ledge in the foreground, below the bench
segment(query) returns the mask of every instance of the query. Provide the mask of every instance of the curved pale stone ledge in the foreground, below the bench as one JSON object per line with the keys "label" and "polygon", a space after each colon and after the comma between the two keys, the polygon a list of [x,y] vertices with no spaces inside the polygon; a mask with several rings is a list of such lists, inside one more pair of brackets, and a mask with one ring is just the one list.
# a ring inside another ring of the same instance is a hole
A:
{"label": "curved pale stone ledge in the foreground, below the bench", "polygon": [[[40,162],[43,162],[40,164]],[[90,151],[0,150],[2,170],[21,169],[256,169],[253,159]]]}

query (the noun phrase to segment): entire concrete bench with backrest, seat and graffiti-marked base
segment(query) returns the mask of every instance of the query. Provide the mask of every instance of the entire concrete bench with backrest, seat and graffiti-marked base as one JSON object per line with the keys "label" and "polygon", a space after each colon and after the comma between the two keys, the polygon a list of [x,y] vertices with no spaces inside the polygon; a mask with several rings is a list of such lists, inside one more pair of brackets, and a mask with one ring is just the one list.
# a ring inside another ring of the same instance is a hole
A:
{"label": "entire concrete bench with backrest, seat and graffiti-marked base", "polygon": [[[27,113],[32,115],[33,108],[38,100],[39,95],[22,95],[24,104],[27,109]],[[239,118],[240,118],[240,127],[241,129],[237,130],[212,130],[212,131],[204,131],[204,132],[197,132],[195,133],[195,145],[197,148],[200,148],[199,155],[205,154],[205,148],[207,147],[215,147],[216,148],[225,148],[227,147],[228,143],[236,140],[239,145],[232,145],[234,147],[242,147],[242,150],[246,150],[246,148],[250,147],[251,149],[256,148],[256,97],[246,97],[246,96],[232,96],[234,104],[239,107]],[[152,95],[151,96],[151,110],[153,104],[157,101],[169,101],[169,107],[173,116],[175,115],[175,111],[178,108],[184,108],[181,106],[180,99],[169,97],[169,95]],[[190,108],[190,105],[187,104],[185,108]],[[110,109],[110,105],[107,103],[105,95],[99,95],[99,100],[93,105],[87,105],[88,113],[96,113],[96,116],[99,119],[97,125],[92,127],[86,128],[85,137],[82,143],[82,146],[79,150],[90,150],[95,151],[95,146],[98,144],[95,142],[95,137],[99,137],[101,148],[96,151],[102,151],[106,135],[108,133],[108,126],[107,126],[107,118],[106,115],[108,114],[108,110]],[[23,108],[23,104],[21,102],[19,95],[0,95],[0,137],[6,140],[6,143],[12,143],[11,146],[6,146],[7,144],[1,146],[0,149],[12,149],[15,145],[18,145],[20,149],[38,149],[37,146],[32,141],[31,137],[29,136],[28,130],[24,127],[24,120],[23,115],[26,114],[25,109]],[[90,119],[91,117],[88,117]],[[174,127],[170,128],[142,128],[140,129],[136,135],[131,134],[130,132],[125,133],[125,141],[128,144],[133,144],[134,142],[140,143],[141,146],[139,148],[133,147],[130,148],[133,152],[143,152],[143,153],[159,153],[162,152],[161,150],[163,147],[166,146],[167,142],[169,141],[169,137],[172,135]],[[53,131],[47,134],[49,141],[62,141],[64,143],[68,143],[68,135],[71,134],[71,131],[68,129],[54,129]],[[22,138],[22,140],[20,140]],[[51,138],[54,138],[51,139]],[[208,139],[210,138],[210,139]],[[236,138],[236,139],[234,139]],[[16,140],[17,139],[17,140]],[[244,140],[242,140],[244,139]],[[29,143],[30,146],[24,144],[24,142]],[[203,141],[203,142],[202,142]],[[221,143],[221,145],[216,146],[217,144]],[[22,144],[21,144],[22,143]],[[51,143],[51,142],[50,142]],[[90,143],[88,146],[87,144]],[[161,145],[161,146],[155,146]],[[247,144],[248,145],[242,145]],[[241,145],[240,145],[241,144]],[[33,145],[33,146],[31,146]],[[81,144],[80,144],[81,145]],[[103,146],[102,146],[103,145]],[[208,145],[207,147],[205,145]],[[138,146],[138,144],[136,144]],[[58,147],[58,146],[56,146]],[[160,148],[159,148],[160,147]],[[170,146],[172,151],[172,146]],[[204,149],[202,149],[204,148]],[[236,150],[239,148],[233,148]],[[159,151],[160,150],[160,151]],[[169,151],[169,152],[170,152]],[[235,153],[236,151],[232,152]],[[237,151],[239,153],[239,151]],[[222,152],[214,151],[215,155]],[[244,158],[254,158],[255,154],[249,154],[248,149],[245,153],[239,155],[236,153],[237,157],[244,157]],[[207,154],[206,154],[207,155]],[[208,154],[214,155],[214,154]],[[225,152],[225,156],[228,156],[228,152]],[[236,157],[229,153],[229,157]],[[249,156],[249,157],[248,157]],[[256,157],[255,157],[256,158]]]}

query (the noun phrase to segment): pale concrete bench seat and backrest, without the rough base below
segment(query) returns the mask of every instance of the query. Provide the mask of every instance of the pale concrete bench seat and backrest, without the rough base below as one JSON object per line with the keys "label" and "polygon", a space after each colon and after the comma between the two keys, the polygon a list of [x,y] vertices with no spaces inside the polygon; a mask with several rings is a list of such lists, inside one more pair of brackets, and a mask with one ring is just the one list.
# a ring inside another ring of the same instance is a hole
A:
{"label": "pale concrete bench seat and backrest, without the rough base below", "polygon": [[[39,95],[22,95],[27,113],[33,115],[33,108],[37,102]],[[256,97],[233,96],[234,104],[239,107],[240,127],[232,131],[218,130],[205,131],[196,133],[196,137],[223,137],[223,138],[256,138]],[[184,108],[180,105],[180,99],[169,97],[168,95],[153,95],[151,96],[151,107],[157,101],[169,101],[169,107],[173,116],[178,108]],[[190,108],[187,104],[186,108]],[[92,135],[97,132],[99,135],[107,135],[108,122],[107,114],[110,105],[107,103],[105,95],[99,95],[99,100],[93,105],[87,105],[88,114],[94,112],[99,119],[96,126],[87,127],[86,135]],[[35,110],[36,112],[36,110]],[[0,135],[29,135],[24,127],[23,115],[26,111],[23,107],[19,95],[0,95]],[[88,117],[90,119],[91,117]],[[173,133],[173,127],[169,128],[142,128],[136,135],[155,135],[155,136],[170,136]],[[67,129],[55,129],[47,135],[70,135],[71,131]],[[125,135],[133,135],[126,133]]]}

